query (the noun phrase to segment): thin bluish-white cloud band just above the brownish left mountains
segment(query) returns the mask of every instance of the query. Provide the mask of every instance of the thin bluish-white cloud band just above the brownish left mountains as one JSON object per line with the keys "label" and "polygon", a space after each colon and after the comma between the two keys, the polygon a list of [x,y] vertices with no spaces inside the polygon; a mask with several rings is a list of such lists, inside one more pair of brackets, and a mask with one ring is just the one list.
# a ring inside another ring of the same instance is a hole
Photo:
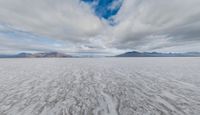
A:
{"label": "thin bluish-white cloud band just above the brownish left mountains", "polygon": [[[59,40],[36,36],[29,32],[18,31],[6,25],[0,25],[1,53],[21,51],[62,51],[67,50],[66,44]],[[68,45],[68,48],[70,44]],[[72,47],[70,50],[73,50]]]}

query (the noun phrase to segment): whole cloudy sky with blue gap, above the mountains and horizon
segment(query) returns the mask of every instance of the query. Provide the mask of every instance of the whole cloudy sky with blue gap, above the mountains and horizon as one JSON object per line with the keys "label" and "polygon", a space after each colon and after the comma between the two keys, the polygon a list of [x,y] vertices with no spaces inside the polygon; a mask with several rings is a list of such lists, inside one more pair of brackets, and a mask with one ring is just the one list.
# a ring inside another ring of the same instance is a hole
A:
{"label": "whole cloudy sky with blue gap, above the mountains and horizon", "polygon": [[0,53],[200,51],[200,0],[0,0]]}

